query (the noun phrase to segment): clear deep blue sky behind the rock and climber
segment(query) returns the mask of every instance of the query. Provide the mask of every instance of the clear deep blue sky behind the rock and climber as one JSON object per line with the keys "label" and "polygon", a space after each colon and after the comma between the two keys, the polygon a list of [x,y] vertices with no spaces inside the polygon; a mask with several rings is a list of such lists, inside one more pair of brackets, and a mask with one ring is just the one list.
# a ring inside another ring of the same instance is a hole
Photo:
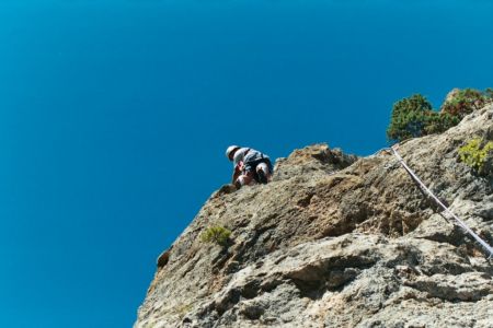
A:
{"label": "clear deep blue sky behind the rock and climber", "polygon": [[0,326],[130,327],[230,177],[386,144],[392,103],[493,86],[493,1],[1,0]]}

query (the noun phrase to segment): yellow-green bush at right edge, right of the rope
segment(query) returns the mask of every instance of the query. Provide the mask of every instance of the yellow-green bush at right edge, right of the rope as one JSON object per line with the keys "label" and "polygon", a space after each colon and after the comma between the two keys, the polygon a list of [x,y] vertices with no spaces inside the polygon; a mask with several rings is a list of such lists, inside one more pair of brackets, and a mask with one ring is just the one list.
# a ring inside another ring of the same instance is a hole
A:
{"label": "yellow-green bush at right edge, right of the rope", "polygon": [[484,142],[480,138],[474,138],[459,149],[459,159],[478,174],[485,175],[488,173],[484,164],[491,151],[493,151],[492,141]]}

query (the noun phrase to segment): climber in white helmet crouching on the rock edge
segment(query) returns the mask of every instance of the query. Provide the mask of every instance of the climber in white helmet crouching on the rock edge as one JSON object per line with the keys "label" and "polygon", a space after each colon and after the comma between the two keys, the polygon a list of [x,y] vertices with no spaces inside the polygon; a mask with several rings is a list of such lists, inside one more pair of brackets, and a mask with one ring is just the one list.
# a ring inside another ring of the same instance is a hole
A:
{"label": "climber in white helmet crouching on the rock edge", "polygon": [[271,159],[251,148],[230,145],[226,150],[226,156],[233,162],[234,171],[231,183],[241,188],[254,181],[266,184],[271,180],[273,166]]}

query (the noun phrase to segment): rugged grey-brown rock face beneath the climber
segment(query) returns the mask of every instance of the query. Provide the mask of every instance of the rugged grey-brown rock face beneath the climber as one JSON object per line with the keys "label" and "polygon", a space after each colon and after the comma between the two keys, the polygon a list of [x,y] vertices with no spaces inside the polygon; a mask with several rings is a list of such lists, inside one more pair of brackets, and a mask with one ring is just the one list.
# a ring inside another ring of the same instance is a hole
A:
{"label": "rugged grey-brown rock face beneath the climber", "polygon": [[[458,161],[493,140],[493,106],[399,152],[493,244],[493,179]],[[228,247],[200,242],[229,229]],[[278,160],[268,185],[216,191],[158,260],[135,327],[493,327],[488,255],[390,153],[324,144]]]}

